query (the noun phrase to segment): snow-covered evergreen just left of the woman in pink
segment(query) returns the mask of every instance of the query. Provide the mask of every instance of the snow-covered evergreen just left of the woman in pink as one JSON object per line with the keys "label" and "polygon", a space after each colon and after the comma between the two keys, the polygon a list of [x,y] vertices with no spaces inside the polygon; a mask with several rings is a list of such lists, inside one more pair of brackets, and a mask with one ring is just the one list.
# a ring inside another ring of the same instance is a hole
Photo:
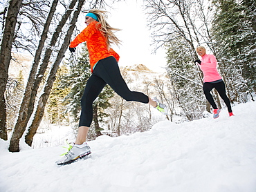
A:
{"label": "snow-covered evergreen just left of the woman in pink", "polygon": [[205,111],[201,77],[192,60],[190,46],[182,40],[172,41],[167,46],[167,71],[173,88],[170,93],[188,120],[203,117]]}

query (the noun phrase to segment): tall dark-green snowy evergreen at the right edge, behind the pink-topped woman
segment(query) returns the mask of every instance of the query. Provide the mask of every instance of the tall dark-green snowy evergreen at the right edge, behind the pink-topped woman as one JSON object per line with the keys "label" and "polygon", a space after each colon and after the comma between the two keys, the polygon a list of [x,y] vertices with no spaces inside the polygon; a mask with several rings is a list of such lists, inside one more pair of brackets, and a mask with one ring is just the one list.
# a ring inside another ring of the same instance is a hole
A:
{"label": "tall dark-green snowy evergreen at the right edge, behind the pink-topped woman", "polygon": [[217,59],[221,71],[232,81],[227,83],[232,87],[231,99],[238,102],[248,86],[255,90],[256,85],[255,10],[250,4],[252,1],[214,1],[217,13],[212,34],[217,41]]}

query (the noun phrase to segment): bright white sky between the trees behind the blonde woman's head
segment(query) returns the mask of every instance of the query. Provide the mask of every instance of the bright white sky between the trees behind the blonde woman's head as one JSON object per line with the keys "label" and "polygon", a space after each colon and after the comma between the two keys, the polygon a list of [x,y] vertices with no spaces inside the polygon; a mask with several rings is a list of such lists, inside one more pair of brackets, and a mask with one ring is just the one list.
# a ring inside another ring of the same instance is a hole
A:
{"label": "bright white sky between the trees behind the blonde woman's head", "polygon": [[[120,55],[119,66],[143,64],[155,72],[165,72],[165,50],[158,49],[154,53],[152,38],[147,27],[147,15],[140,0],[129,0],[114,3],[107,11],[108,23],[113,28],[120,28],[116,36],[120,39],[119,48],[113,49]],[[85,28],[84,13],[80,15],[80,30]]]}

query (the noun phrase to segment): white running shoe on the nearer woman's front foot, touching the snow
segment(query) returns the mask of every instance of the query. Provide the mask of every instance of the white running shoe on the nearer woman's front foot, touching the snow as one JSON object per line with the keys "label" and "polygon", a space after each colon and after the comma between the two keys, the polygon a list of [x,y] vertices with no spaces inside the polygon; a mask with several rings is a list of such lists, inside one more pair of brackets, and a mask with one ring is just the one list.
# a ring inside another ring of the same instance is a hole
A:
{"label": "white running shoe on the nearer woman's front foot, touching the snow", "polygon": [[64,157],[56,163],[57,165],[71,164],[89,154],[91,154],[91,148],[86,142],[80,145],[75,144],[66,154],[64,153]]}

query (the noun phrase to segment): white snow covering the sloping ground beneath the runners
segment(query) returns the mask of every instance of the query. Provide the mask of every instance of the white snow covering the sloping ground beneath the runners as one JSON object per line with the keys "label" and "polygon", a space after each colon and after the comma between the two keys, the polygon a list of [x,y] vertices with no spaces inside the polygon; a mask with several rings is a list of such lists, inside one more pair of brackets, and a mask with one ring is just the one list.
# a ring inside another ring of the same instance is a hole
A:
{"label": "white snow covering the sloping ground beneath the runners", "polygon": [[0,140],[0,191],[255,192],[256,102],[233,110],[233,117],[223,109],[218,119],[163,121],[144,133],[104,135],[88,142],[89,159],[60,167],[60,146],[23,144],[21,152],[9,153]]}

